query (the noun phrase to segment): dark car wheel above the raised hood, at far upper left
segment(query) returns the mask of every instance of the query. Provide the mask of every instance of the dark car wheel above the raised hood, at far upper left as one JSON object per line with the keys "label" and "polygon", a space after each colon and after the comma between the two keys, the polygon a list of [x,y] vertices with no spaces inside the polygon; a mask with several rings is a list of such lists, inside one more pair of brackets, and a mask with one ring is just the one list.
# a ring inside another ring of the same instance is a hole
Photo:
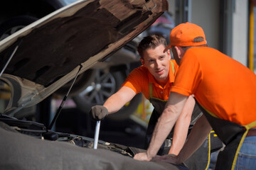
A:
{"label": "dark car wheel above the raised hood, at far upper left", "polygon": [[33,16],[16,16],[9,18],[0,25],[0,40],[8,37],[16,31],[37,21],[38,18]]}

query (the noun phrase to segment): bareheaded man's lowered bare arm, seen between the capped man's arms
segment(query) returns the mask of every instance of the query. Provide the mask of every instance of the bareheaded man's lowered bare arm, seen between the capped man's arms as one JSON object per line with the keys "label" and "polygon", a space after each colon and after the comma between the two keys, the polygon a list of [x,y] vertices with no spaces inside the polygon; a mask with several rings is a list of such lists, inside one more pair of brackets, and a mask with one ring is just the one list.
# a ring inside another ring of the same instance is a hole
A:
{"label": "bareheaded man's lowered bare arm, seen between the capped man's arms", "polygon": [[174,137],[171,143],[169,154],[178,155],[184,143],[186,142],[186,137],[188,135],[188,127],[191,123],[191,115],[195,103],[196,101],[193,98],[193,96],[188,96],[188,100],[186,101],[181,112],[181,115],[178,117],[178,120],[175,124]]}

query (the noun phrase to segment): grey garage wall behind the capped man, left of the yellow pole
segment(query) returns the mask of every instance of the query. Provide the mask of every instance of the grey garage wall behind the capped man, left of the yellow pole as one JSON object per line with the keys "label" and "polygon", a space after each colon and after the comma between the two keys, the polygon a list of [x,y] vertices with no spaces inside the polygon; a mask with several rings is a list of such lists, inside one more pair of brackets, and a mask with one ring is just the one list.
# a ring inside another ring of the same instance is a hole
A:
{"label": "grey garage wall behind the capped man, left of the yellow pole", "polygon": [[[179,13],[178,22],[182,21],[181,8],[174,8],[178,0],[169,0],[169,11]],[[188,20],[201,26],[206,34],[209,47],[224,52],[247,66],[248,54],[248,13],[249,1],[245,0],[187,0]],[[183,1],[184,2],[184,1]],[[180,11],[180,12],[177,12]]]}

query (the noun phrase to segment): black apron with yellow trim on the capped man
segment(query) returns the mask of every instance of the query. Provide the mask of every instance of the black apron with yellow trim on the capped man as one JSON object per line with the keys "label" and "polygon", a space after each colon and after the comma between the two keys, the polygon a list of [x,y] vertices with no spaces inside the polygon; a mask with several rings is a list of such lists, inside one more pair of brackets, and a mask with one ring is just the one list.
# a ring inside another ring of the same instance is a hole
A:
{"label": "black apron with yellow trim on the capped man", "polygon": [[[196,103],[198,103],[196,101]],[[215,169],[229,170],[235,169],[235,163],[238,159],[238,152],[245,140],[248,130],[256,126],[256,121],[249,125],[238,125],[228,120],[218,118],[218,116],[207,111],[198,103],[201,111],[206,116],[213,130],[216,132],[220,140],[225,144],[225,149],[218,154]]]}

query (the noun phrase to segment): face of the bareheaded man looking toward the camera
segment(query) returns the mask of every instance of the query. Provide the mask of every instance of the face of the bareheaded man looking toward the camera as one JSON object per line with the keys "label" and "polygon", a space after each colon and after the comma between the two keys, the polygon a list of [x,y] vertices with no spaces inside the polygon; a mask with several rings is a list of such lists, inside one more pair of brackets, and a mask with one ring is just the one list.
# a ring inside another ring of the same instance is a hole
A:
{"label": "face of the bareheaded man looking toward the camera", "polygon": [[169,79],[170,51],[164,52],[164,45],[159,45],[155,49],[148,49],[143,52],[142,64],[154,76],[156,81],[164,83]]}

